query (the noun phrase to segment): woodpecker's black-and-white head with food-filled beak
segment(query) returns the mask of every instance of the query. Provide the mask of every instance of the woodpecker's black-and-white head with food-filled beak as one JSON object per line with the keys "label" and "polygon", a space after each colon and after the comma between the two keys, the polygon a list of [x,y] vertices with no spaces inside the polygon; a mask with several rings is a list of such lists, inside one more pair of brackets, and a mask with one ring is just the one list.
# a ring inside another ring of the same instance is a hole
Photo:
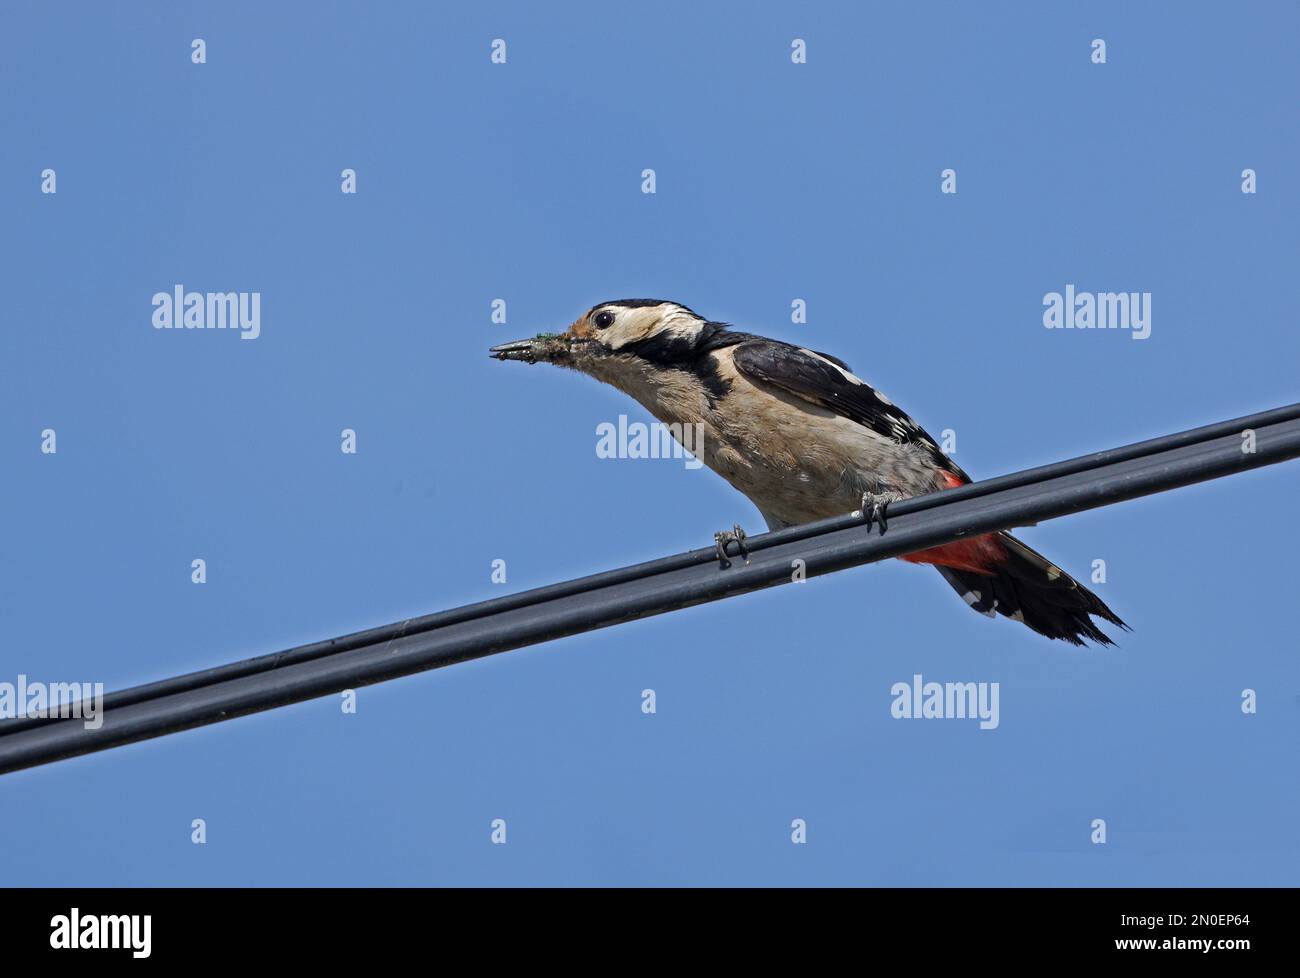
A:
{"label": "woodpecker's black-and-white head with food-filled beak", "polygon": [[703,317],[666,299],[615,299],[584,312],[563,333],[538,333],[489,350],[498,360],[554,363],[601,376],[637,359],[671,363],[696,349]]}

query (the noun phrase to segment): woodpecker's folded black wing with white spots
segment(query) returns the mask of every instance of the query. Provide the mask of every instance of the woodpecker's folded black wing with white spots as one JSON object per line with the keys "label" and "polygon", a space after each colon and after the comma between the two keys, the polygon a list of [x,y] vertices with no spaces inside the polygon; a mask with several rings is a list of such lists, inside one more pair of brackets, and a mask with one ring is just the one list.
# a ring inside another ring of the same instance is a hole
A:
{"label": "woodpecker's folded black wing with white spots", "polygon": [[733,347],[732,362],[750,380],[780,388],[786,394],[857,421],[890,441],[916,445],[936,467],[954,473],[962,482],[970,481],[919,424],[866,381],[853,376],[842,360],[755,337]]}

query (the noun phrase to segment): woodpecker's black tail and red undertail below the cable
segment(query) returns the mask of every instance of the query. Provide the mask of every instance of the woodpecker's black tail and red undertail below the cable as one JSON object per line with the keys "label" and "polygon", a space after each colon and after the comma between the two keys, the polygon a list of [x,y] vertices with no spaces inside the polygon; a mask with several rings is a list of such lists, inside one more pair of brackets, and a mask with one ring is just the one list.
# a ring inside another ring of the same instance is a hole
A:
{"label": "woodpecker's black tail and red undertail below the cable", "polygon": [[980,614],[1006,615],[1048,639],[1071,645],[1083,645],[1084,639],[1114,645],[1089,615],[1128,631],[1106,602],[1010,533],[989,533],[902,559],[935,564],[953,590]]}

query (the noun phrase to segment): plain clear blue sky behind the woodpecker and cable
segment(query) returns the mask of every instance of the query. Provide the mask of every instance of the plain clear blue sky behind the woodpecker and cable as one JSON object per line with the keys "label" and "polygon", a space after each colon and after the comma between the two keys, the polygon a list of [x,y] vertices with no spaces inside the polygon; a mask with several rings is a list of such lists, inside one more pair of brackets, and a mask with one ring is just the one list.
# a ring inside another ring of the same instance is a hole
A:
{"label": "plain clear blue sky behind the woodpecker and cable", "polygon": [[[485,355],[603,299],[833,352],[976,479],[1296,401],[1300,14],[1206,8],[5,5],[0,681],[760,529],[597,458],[649,420],[612,389]],[[153,329],[177,284],[261,334]],[[1044,329],[1067,284],[1149,291],[1150,337]],[[1106,562],[1118,649],[889,562],[4,776],[0,882],[1296,884],[1297,476],[1024,531]],[[914,674],[1000,683],[998,728],[893,719]]]}

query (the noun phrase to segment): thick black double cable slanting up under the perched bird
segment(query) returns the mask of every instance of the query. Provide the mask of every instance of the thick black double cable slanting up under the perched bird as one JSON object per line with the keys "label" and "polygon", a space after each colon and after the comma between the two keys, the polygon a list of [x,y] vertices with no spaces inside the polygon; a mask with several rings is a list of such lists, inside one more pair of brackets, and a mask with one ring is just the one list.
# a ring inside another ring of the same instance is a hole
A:
{"label": "thick black double cable slanting up under the perched bird", "polygon": [[[1253,433],[1247,438],[1247,432]],[[104,698],[103,723],[0,722],[0,774],[924,550],[1300,456],[1300,404],[233,662]]]}

